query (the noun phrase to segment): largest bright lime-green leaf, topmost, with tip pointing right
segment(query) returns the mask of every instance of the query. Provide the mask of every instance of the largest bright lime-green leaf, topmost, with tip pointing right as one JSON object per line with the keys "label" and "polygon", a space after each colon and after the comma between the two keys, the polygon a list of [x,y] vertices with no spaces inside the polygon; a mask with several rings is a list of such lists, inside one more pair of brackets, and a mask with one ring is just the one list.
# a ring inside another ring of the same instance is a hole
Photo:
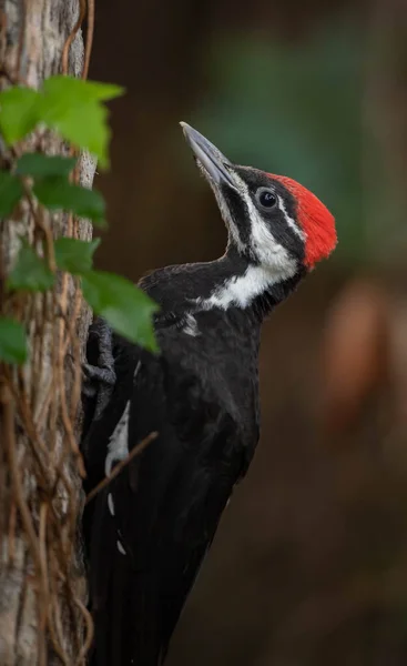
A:
{"label": "largest bright lime-green leaf, topmost, with tip pointing right", "polygon": [[119,85],[82,81],[71,77],[51,77],[43,84],[41,120],[58,130],[64,139],[87,149],[109,167],[108,109],[101,103],[124,90]]}

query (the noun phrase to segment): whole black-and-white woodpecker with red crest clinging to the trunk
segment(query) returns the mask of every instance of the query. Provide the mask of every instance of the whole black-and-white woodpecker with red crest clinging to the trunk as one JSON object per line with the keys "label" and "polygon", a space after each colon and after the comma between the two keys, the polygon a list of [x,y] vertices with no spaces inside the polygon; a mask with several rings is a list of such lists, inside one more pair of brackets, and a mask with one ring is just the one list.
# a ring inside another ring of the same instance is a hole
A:
{"label": "whole black-and-white woodpecker with red crest clinging to the trunk", "polygon": [[161,306],[157,355],[112,334],[102,320],[91,327],[87,373],[95,400],[87,402],[82,443],[87,491],[159,433],[85,511],[91,663],[98,666],[164,662],[222,512],[256,448],[262,322],[336,244],[334,218],[308,190],[231,163],[181,124],[228,242],[216,261],[167,266],[141,280]]}

